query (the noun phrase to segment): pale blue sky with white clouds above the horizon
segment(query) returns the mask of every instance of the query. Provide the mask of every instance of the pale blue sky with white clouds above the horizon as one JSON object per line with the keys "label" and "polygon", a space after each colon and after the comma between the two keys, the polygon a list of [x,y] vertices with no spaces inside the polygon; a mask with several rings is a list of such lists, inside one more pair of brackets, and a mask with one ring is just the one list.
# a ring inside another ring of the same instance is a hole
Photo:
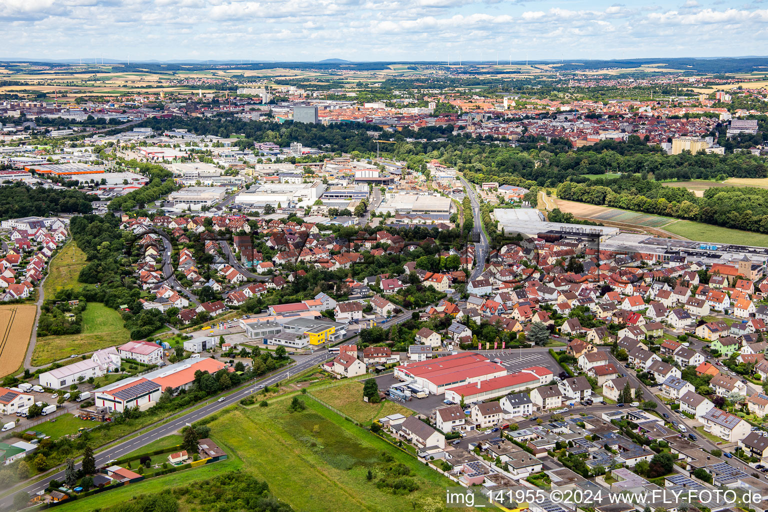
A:
{"label": "pale blue sky with white clouds above the horizon", "polygon": [[765,55],[766,21],[768,0],[0,0],[0,58],[521,61]]}

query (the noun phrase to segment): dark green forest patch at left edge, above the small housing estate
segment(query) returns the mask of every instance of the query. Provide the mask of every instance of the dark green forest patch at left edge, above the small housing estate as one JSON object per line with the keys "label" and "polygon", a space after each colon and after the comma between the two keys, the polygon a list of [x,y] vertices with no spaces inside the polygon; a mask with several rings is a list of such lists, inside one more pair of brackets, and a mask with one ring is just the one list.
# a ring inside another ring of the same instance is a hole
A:
{"label": "dark green forest patch at left edge, above the small housing estate", "polygon": [[52,190],[11,183],[0,187],[0,219],[52,216],[61,213],[91,213],[98,197],[79,190]]}

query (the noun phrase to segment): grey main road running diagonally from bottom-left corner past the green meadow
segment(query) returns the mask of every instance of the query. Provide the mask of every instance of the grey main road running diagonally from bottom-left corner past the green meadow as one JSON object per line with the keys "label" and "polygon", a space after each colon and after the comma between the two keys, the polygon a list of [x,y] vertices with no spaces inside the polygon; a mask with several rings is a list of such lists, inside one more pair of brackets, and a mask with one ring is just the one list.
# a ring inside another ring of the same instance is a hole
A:
{"label": "grey main road running diagonally from bottom-left corner past the green meadow", "polygon": [[[165,424],[161,424],[160,426],[153,428],[151,431],[144,432],[144,434],[139,434],[135,438],[127,439],[120,444],[115,444],[110,448],[106,448],[105,450],[98,452],[98,454],[94,455],[94,458],[96,459],[96,467],[104,466],[108,464],[109,461],[123,457],[125,454],[131,453],[131,451],[147,446],[148,444],[151,444],[160,438],[173,434],[175,431],[178,431],[180,428],[183,428],[187,424],[192,424],[194,421],[197,421],[200,418],[205,418],[206,416],[212,415],[225,407],[233,405],[237,403],[237,401],[239,401],[241,398],[253,395],[253,393],[259,391],[260,388],[263,388],[264,386],[272,385],[275,382],[282,381],[283,379],[288,378],[290,374],[295,375],[298,372],[303,372],[307,368],[311,368],[315,365],[319,365],[320,363],[325,362],[328,358],[329,355],[327,349],[323,349],[322,351],[315,352],[311,355],[294,356],[294,359],[296,359],[296,365],[292,365],[289,368],[286,368],[273,375],[261,378],[258,381],[254,381],[246,388],[240,389],[240,391],[235,391],[231,395],[225,396],[223,401],[214,400],[201,408],[188,412],[186,415],[175,418]],[[80,467],[79,462],[75,465],[78,468]],[[13,504],[14,494],[18,492],[25,492],[32,495],[38,493],[39,491],[45,491],[45,489],[48,487],[48,482],[51,481],[51,479],[64,481],[64,477],[64,470],[61,470],[55,474],[48,475],[48,477],[45,477],[45,479],[42,481],[29,484],[27,487],[19,489],[18,491],[15,491],[15,493],[9,494],[5,498],[2,498],[2,500],[0,500],[0,508],[5,509],[5,507],[10,507]]]}

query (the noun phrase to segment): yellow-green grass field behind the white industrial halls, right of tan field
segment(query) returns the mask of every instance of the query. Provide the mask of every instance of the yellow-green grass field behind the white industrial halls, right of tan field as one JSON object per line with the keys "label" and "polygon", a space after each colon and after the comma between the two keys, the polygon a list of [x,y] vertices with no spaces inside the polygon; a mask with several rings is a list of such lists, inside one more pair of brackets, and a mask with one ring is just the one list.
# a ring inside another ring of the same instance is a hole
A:
{"label": "yellow-green grass field behind the white industrial halls, right of tan field", "polygon": [[129,334],[123,327],[119,312],[100,302],[88,302],[88,307],[83,312],[82,332],[38,338],[35,352],[32,354],[32,365],[47,365],[71,354],[83,354],[121,345],[128,339]]}

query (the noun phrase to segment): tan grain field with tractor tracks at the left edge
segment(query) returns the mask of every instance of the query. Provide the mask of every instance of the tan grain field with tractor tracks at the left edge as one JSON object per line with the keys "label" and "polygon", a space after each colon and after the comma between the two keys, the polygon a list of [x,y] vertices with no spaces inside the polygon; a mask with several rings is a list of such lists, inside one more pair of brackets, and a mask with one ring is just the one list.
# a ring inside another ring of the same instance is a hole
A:
{"label": "tan grain field with tractor tracks at the left edge", "polygon": [[38,308],[34,304],[0,306],[0,377],[24,363]]}

